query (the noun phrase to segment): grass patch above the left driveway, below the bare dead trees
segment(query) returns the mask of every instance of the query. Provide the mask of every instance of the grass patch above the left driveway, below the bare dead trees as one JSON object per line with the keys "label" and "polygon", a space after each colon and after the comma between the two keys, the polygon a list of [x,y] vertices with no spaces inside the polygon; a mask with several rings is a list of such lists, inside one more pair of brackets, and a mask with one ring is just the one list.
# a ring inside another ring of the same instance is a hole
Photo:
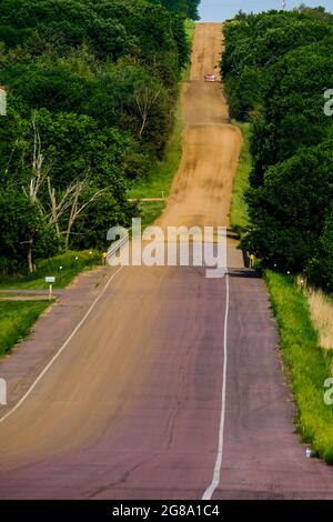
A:
{"label": "grass patch above the left driveway, below the bare dead trees", "polygon": [[[3,290],[44,290],[48,283],[47,275],[54,275],[54,288],[67,287],[80,272],[101,262],[101,255],[97,251],[84,250],[82,252],[69,251],[54,258],[37,261],[37,270],[32,274],[1,275],[0,292]],[[60,268],[62,267],[62,268]]]}

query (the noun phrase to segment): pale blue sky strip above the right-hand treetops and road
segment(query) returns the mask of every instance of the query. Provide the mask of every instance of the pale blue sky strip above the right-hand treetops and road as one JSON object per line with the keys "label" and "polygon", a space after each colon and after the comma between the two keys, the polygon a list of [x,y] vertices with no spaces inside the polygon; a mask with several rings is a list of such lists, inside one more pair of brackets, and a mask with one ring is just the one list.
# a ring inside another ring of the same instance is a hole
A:
{"label": "pale blue sky strip above the right-hand treetops and road", "polygon": [[[302,0],[286,0],[289,9],[299,7]],[[309,7],[322,6],[333,12],[333,0],[303,0]],[[202,22],[219,22],[232,18],[240,9],[245,12],[260,12],[268,9],[280,9],[282,0],[201,0],[200,16]]]}

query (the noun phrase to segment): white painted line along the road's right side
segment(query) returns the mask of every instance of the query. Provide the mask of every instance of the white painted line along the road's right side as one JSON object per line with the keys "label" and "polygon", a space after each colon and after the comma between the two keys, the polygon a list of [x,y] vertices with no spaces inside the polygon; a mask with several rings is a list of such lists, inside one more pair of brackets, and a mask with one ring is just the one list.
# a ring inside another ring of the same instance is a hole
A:
{"label": "white painted line along the road's right side", "polygon": [[224,339],[223,339],[223,375],[222,375],[222,402],[221,402],[221,419],[219,428],[219,444],[218,454],[213,472],[213,480],[203,493],[202,500],[211,500],[214,491],[220,484],[221,468],[223,461],[223,446],[224,446],[224,423],[225,423],[225,393],[226,393],[226,370],[228,370],[228,319],[229,319],[229,274],[226,271],[226,298],[225,298],[225,315],[224,315]]}

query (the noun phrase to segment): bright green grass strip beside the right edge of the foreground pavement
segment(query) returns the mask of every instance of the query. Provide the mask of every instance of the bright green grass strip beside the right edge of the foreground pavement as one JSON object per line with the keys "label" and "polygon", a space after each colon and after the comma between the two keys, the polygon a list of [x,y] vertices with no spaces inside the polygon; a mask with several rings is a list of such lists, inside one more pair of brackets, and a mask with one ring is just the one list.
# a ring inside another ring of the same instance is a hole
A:
{"label": "bright green grass strip beside the right edge of the foreground pavement", "polygon": [[265,281],[279,324],[285,370],[297,406],[296,429],[313,451],[333,463],[333,405],[324,402],[333,351],[320,347],[306,295],[294,278],[268,270]]}

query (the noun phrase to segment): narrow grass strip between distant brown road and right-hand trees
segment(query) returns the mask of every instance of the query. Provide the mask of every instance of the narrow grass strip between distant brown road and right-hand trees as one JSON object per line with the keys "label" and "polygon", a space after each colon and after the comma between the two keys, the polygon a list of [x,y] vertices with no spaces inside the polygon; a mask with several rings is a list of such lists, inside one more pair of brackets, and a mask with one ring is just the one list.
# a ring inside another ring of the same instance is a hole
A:
{"label": "narrow grass strip between distant brown road and right-hand trees", "polygon": [[230,224],[235,232],[242,233],[250,223],[245,192],[249,189],[249,175],[252,168],[252,158],[250,153],[251,123],[241,123],[233,120],[232,124],[241,130],[243,135],[243,145],[233,180]]}

